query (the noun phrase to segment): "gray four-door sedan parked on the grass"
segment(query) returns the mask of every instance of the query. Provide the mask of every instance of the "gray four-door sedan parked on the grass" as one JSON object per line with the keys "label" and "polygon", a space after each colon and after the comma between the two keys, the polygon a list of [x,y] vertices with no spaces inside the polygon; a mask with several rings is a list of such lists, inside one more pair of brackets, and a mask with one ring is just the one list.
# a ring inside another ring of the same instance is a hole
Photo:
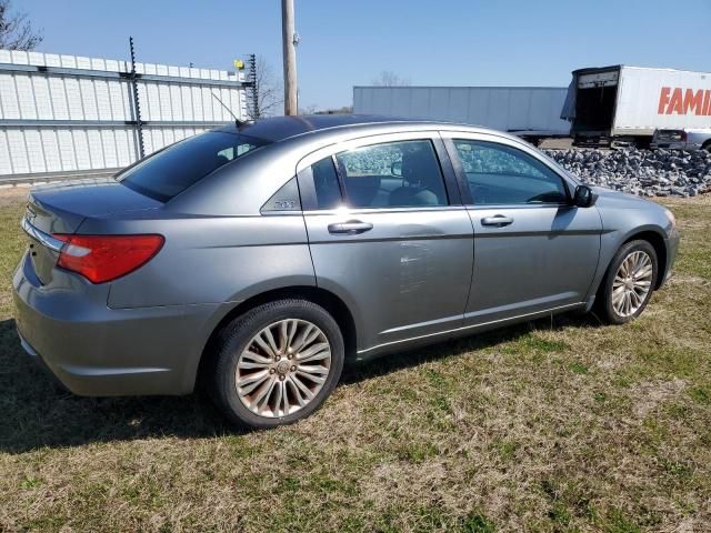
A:
{"label": "gray four-door sedan parked on the grass", "polygon": [[497,131],[316,115],[223,127],[114,179],[32,189],[24,350],[83,395],[187,394],[269,428],[344,361],[565,311],[621,324],[669,276],[670,211]]}

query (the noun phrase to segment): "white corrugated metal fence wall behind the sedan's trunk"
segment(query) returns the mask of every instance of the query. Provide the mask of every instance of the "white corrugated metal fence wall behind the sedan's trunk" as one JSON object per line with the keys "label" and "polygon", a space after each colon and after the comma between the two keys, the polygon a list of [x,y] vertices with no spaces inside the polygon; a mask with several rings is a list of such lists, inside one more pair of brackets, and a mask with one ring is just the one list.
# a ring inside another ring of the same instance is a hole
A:
{"label": "white corrugated metal fence wall behind the sedan's trunk", "polygon": [[[130,63],[0,50],[0,180],[137,160]],[[243,73],[137,63],[146,154],[247,115]]]}

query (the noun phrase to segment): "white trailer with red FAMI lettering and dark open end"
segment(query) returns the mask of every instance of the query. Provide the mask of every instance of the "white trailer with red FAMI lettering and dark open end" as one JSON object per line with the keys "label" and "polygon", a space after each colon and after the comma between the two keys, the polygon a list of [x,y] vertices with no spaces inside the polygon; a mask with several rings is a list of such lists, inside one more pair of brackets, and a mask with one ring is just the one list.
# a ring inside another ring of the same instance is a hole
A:
{"label": "white trailer with red FAMI lettering and dark open end", "polygon": [[563,110],[579,142],[649,143],[657,129],[711,127],[711,73],[642,67],[573,72]]}

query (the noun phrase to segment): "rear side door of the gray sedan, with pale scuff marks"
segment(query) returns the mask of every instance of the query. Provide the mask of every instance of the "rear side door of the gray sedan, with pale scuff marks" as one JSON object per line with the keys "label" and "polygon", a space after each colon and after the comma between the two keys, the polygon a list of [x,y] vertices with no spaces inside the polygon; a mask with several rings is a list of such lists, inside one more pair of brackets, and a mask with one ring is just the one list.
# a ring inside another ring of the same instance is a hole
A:
{"label": "rear side door of the gray sedan, with pale scuff marks", "polygon": [[297,171],[317,284],[349,306],[361,356],[461,326],[472,225],[438,133],[353,140]]}

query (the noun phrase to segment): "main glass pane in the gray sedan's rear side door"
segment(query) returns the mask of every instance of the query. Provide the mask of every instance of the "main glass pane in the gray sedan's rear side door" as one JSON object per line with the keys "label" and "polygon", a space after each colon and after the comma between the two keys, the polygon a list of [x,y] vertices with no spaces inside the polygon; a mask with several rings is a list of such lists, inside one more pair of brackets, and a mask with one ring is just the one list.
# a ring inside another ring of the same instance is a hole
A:
{"label": "main glass pane in the gray sedan's rear side door", "polygon": [[444,179],[431,141],[399,141],[336,155],[351,208],[447,205]]}

